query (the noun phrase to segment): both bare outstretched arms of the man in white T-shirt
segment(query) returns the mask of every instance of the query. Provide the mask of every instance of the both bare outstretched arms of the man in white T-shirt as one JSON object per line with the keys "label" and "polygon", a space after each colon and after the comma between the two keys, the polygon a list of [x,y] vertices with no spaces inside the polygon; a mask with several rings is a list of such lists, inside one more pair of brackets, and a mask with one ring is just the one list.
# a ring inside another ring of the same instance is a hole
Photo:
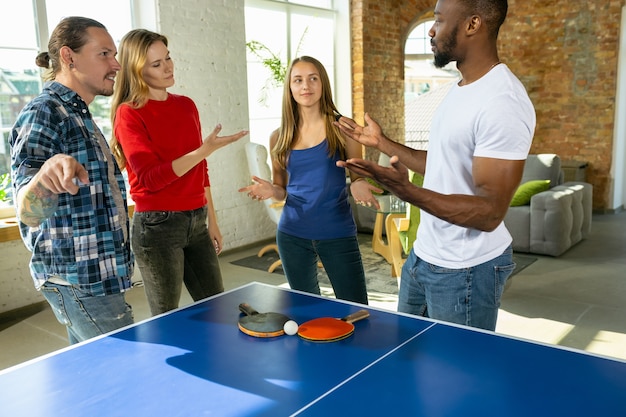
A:
{"label": "both bare outstretched arms of the man in white T-shirt", "polygon": [[386,137],[380,126],[365,115],[366,126],[342,117],[337,126],[348,137],[390,155],[390,167],[351,158],[338,166],[373,178],[384,188],[424,211],[449,223],[486,232],[493,231],[504,219],[524,170],[524,160],[473,159],[472,177],[476,195],[440,194],[409,181],[407,169],[424,173],[426,152],[410,149]]}

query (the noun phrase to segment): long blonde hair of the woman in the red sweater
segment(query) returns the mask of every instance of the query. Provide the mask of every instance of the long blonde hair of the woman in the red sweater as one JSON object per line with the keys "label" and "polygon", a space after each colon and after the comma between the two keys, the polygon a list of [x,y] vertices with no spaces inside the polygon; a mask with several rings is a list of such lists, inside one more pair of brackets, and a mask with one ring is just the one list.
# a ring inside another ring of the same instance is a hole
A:
{"label": "long blonde hair of the woman in the red sweater", "polygon": [[[115,91],[111,101],[112,126],[115,126],[115,112],[120,105],[128,103],[138,109],[148,101],[150,89],[143,79],[143,67],[146,64],[148,49],[158,41],[167,46],[165,36],[145,29],[131,30],[122,38],[117,57],[122,68],[115,77]],[[115,129],[111,135],[110,146],[120,169],[123,170],[126,167],[126,157],[115,137]]]}

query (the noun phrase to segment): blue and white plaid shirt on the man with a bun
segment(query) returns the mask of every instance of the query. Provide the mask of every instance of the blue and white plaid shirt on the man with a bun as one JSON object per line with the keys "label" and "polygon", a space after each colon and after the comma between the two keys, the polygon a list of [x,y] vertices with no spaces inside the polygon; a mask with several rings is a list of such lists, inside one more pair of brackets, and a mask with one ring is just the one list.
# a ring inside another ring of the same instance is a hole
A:
{"label": "blue and white plaid shirt on the man with a bun", "polygon": [[[24,107],[11,131],[14,195],[55,154],[76,158],[89,174],[89,184],[79,184],[76,195],[59,194],[56,212],[38,227],[20,222],[22,240],[33,253],[30,270],[37,289],[51,276],[94,296],[130,288],[134,257],[124,238],[129,224],[121,224],[109,186],[107,159],[96,137],[101,133],[95,129],[80,96],[52,81]],[[124,178],[115,165],[127,210]]]}

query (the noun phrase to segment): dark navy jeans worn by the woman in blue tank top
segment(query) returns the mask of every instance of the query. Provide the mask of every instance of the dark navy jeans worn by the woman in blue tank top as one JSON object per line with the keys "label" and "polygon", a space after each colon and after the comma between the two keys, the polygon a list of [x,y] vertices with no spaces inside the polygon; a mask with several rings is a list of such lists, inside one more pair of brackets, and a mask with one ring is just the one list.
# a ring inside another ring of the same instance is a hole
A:
{"label": "dark navy jeans worn by the woman in blue tank top", "polygon": [[291,288],[320,294],[317,280],[319,258],[324,264],[335,297],[367,304],[365,272],[356,236],[309,240],[278,231],[276,243]]}

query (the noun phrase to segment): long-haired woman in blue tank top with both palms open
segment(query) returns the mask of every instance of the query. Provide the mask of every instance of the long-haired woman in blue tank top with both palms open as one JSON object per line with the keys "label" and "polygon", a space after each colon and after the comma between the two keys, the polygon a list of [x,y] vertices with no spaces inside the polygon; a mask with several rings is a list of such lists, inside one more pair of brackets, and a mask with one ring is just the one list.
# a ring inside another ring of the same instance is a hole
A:
{"label": "long-haired woman in blue tank top with both palms open", "polygon": [[[338,160],[362,157],[362,145],[342,136],[330,80],[315,58],[291,63],[285,78],[282,121],[270,137],[273,182],[254,178],[242,188],[252,198],[285,201],[276,232],[283,270],[291,288],[320,294],[318,259],[340,299],[367,304],[357,230],[348,201],[346,171]],[[376,204],[380,191],[355,174],[356,201]]]}

